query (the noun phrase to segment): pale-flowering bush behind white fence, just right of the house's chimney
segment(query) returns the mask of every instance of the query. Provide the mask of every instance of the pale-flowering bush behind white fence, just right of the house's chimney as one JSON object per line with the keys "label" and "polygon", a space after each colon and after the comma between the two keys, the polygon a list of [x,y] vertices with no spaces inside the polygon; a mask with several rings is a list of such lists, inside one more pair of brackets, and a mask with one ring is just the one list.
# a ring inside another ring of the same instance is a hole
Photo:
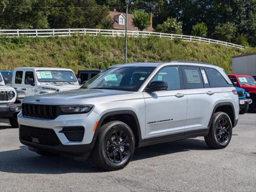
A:
{"label": "pale-flowering bush behind white fence, just right of the house's chimney", "polygon": [[177,21],[176,18],[168,17],[162,24],[156,27],[158,32],[182,34],[182,22]]}

